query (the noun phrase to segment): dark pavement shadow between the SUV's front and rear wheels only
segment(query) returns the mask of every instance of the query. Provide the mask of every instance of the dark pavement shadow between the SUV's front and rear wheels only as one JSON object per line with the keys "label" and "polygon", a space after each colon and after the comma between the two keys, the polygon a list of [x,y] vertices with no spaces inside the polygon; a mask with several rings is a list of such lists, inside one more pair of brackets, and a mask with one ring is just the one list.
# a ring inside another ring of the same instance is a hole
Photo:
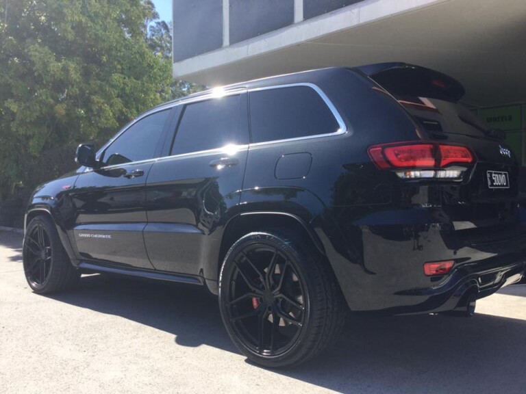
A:
{"label": "dark pavement shadow between the SUV's front and rear wheels only", "polygon": [[203,287],[95,274],[83,276],[77,289],[50,298],[169,332],[182,346],[237,352],[223,328],[217,298]]}

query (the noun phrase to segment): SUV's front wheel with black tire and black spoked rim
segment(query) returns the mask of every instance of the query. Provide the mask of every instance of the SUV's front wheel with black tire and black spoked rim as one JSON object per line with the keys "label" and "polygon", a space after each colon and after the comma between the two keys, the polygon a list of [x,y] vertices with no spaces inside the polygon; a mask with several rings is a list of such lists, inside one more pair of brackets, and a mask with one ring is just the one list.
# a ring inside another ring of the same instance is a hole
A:
{"label": "SUV's front wheel with black tire and black spoked rim", "polygon": [[47,216],[37,216],[27,226],[23,264],[29,287],[39,294],[69,289],[80,277],[62,246],[55,224]]}

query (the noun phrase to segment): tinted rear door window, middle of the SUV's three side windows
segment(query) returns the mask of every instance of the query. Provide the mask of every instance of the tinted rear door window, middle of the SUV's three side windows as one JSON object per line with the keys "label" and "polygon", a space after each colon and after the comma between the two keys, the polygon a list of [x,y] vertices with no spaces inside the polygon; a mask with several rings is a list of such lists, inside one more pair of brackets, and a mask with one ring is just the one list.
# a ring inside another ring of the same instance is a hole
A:
{"label": "tinted rear door window, middle of the SUV's three side windows", "polygon": [[184,108],[171,155],[240,142],[240,95],[191,103]]}

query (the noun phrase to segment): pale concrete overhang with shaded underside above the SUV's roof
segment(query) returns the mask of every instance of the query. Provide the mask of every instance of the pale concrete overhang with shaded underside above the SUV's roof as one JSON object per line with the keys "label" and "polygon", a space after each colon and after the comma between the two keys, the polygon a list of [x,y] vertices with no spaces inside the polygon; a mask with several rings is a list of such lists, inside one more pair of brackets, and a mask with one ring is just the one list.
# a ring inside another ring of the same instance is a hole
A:
{"label": "pale concrete overhang with shaded underside above the SUV's roof", "polygon": [[515,103],[526,91],[525,21],[524,0],[366,0],[175,62],[173,76],[218,86],[312,68],[408,62],[461,81],[464,101],[474,107]]}

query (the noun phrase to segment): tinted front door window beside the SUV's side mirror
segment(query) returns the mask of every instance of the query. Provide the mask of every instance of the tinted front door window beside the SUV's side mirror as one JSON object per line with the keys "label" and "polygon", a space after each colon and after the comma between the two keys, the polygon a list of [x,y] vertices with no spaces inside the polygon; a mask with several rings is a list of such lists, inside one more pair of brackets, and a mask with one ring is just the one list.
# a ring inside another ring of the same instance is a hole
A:
{"label": "tinted front door window beside the SUV's side mirror", "polygon": [[104,152],[105,166],[152,159],[170,109],[142,118],[129,127]]}

